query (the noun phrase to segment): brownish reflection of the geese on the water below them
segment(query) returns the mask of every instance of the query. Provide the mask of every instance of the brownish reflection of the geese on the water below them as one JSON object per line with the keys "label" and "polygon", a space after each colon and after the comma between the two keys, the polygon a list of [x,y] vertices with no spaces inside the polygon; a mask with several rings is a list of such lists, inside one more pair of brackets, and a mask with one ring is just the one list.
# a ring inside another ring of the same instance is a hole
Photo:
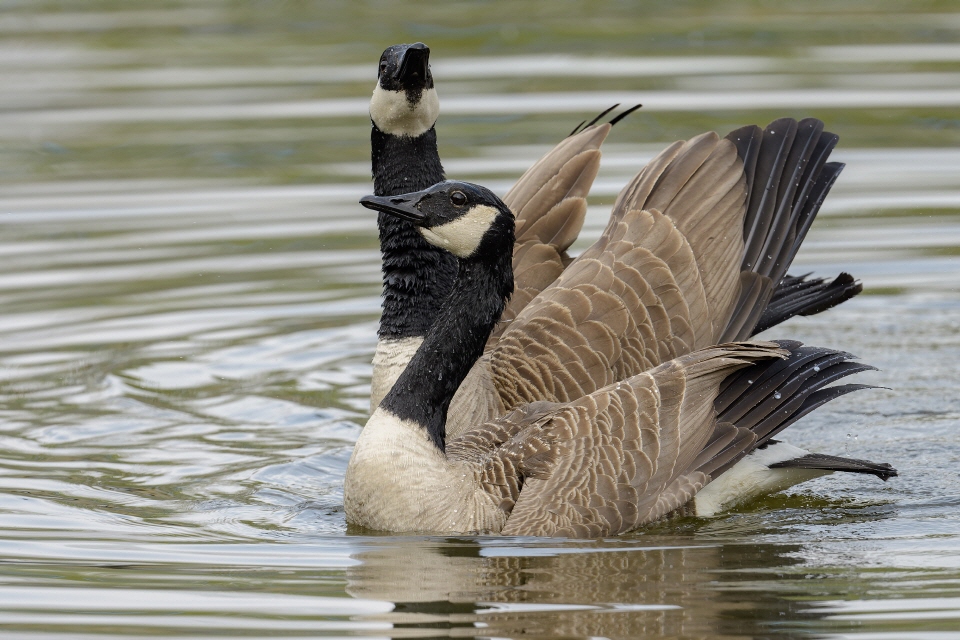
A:
{"label": "brownish reflection of the geese on the water below them", "polygon": [[360,564],[347,571],[347,592],[394,602],[380,619],[455,637],[753,637],[755,621],[769,620],[771,610],[803,605],[750,576],[799,563],[799,550],[684,545],[675,536],[548,544],[386,538],[353,556]]}

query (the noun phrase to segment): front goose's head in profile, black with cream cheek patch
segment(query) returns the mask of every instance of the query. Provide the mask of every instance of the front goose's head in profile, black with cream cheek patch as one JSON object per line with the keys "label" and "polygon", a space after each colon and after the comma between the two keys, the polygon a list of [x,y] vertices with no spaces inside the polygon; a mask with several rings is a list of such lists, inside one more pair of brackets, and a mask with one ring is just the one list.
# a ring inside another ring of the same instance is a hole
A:
{"label": "front goose's head in profile, black with cream cheek patch", "polygon": [[513,213],[480,185],[447,180],[400,196],[366,196],[360,204],[408,220],[427,242],[461,260],[499,262],[513,253]]}

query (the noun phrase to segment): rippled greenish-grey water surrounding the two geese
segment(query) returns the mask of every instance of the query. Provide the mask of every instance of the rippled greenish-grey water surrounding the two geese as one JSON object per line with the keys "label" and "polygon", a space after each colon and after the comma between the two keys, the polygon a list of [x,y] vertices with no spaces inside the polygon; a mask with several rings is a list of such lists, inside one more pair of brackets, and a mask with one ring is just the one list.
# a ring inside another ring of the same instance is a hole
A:
{"label": "rippled greenish-grey water surrounding the two geese", "polygon": [[[953,638],[954,3],[0,4],[0,628],[52,636]],[[580,120],[585,231],[665,143],[815,115],[848,164],[770,332],[877,365],[790,429],[890,461],[598,541],[350,535],[379,308],[366,103],[434,50],[451,176],[504,191]]]}

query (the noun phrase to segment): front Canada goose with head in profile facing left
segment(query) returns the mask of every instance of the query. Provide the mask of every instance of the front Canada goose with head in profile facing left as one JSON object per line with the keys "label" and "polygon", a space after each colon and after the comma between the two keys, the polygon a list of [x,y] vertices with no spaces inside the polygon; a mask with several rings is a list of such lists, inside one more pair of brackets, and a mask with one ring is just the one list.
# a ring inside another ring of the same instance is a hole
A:
{"label": "front Canada goose with head in profile facing left", "polygon": [[[796,342],[724,344],[571,402],[526,404],[448,441],[454,391],[513,291],[513,214],[489,190],[462,182],[361,203],[418,225],[428,242],[457,256],[459,271],[423,344],[357,440],[344,483],[353,525],[624,533],[684,507],[760,447],[774,449],[773,436],[800,416],[862,388],[825,385],[871,368]],[[595,260],[581,257],[573,267]],[[787,484],[833,469],[896,475],[889,465],[806,452],[776,463],[779,471],[769,462],[767,471],[791,476],[781,478]]]}

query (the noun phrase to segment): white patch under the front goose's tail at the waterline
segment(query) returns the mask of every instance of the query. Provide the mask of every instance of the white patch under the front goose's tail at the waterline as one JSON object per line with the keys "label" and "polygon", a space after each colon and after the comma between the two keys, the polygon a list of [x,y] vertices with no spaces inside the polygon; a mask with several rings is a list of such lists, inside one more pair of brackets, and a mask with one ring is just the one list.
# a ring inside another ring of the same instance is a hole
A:
{"label": "white patch under the front goose's tail at the waterline", "polygon": [[713,516],[757,496],[833,473],[822,469],[770,468],[771,464],[802,458],[808,453],[786,442],[757,449],[694,497],[694,513],[700,517]]}

